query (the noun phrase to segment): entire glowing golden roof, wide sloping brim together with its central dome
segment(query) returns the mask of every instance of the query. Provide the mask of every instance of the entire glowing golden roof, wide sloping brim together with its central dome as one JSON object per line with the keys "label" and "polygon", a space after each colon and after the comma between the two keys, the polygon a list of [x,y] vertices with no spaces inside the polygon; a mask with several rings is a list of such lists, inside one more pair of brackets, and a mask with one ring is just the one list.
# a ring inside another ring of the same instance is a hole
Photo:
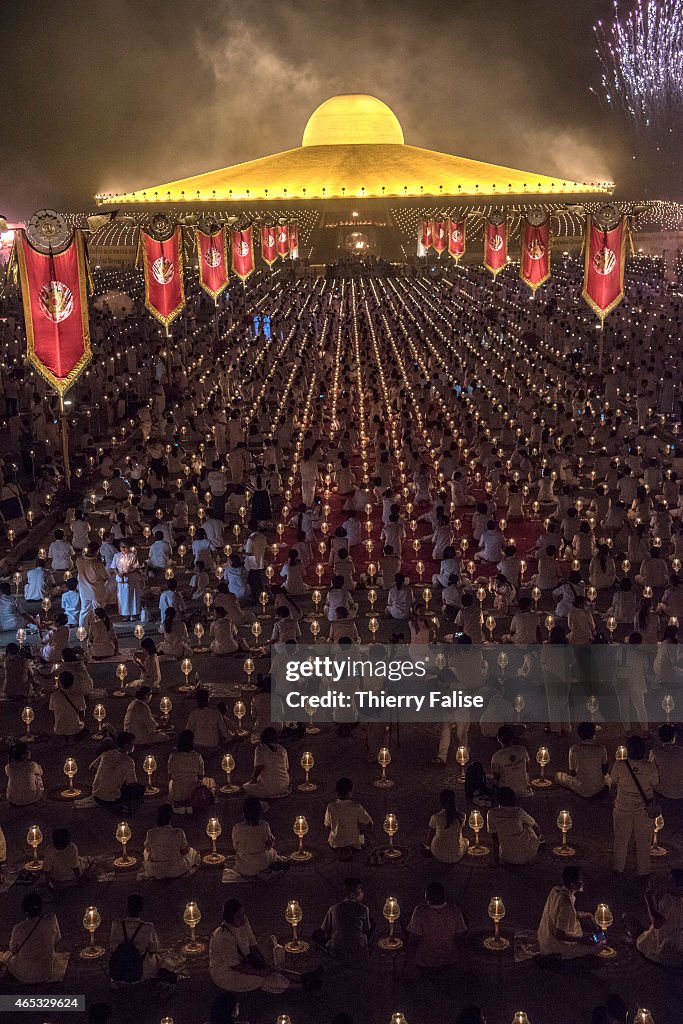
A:
{"label": "entire glowing golden roof, wide sloping brim together with its central dome", "polygon": [[108,203],[249,202],[381,197],[577,195],[610,191],[405,145],[395,114],[375,96],[333,96],[308,119],[302,145],[126,195]]}

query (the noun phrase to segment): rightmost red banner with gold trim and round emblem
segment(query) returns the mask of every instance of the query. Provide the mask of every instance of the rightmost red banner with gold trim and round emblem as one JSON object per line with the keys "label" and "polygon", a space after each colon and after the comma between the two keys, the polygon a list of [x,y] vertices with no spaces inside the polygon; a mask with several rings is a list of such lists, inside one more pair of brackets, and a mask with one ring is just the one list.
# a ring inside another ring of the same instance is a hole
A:
{"label": "rightmost red banner with gold trim and round emblem", "polygon": [[622,217],[616,227],[609,230],[598,227],[590,214],[586,218],[582,297],[601,321],[624,298],[628,232],[626,217]]}

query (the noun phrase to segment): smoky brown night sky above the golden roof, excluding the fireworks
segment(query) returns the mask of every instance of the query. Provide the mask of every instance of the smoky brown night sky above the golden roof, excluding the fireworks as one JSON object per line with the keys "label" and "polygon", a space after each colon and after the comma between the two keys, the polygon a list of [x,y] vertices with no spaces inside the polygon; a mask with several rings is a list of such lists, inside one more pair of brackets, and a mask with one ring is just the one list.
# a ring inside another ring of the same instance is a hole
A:
{"label": "smoky brown night sky above the golden roof, excluding the fireworks", "polygon": [[89,209],[96,191],[291,148],[339,92],[379,96],[414,145],[664,195],[656,158],[589,91],[600,82],[593,24],[610,10],[602,0],[5,3],[0,213]]}

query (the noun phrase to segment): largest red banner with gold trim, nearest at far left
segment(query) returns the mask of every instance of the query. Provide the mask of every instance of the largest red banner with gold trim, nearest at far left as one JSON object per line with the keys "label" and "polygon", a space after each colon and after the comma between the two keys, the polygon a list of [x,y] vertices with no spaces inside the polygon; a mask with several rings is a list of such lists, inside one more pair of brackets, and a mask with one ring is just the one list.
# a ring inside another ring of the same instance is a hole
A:
{"label": "largest red banner with gold trim, nearest at far left", "polygon": [[90,361],[90,327],[83,236],[56,256],[37,252],[23,230],[15,236],[27,355],[63,395]]}

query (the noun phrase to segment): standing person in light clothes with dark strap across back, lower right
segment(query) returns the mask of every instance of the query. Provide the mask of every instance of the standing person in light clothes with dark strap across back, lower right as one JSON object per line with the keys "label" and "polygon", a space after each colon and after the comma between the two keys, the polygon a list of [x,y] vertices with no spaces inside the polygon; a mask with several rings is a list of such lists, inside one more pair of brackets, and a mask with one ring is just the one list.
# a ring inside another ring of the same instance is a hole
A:
{"label": "standing person in light clothes with dark strap across back, lower right", "polygon": [[614,870],[618,874],[624,873],[629,840],[633,835],[638,874],[645,877],[650,873],[653,799],[659,775],[656,764],[645,760],[647,748],[640,736],[630,737],[627,752],[627,759],[616,761],[611,770],[612,784],[616,790],[612,811]]}

